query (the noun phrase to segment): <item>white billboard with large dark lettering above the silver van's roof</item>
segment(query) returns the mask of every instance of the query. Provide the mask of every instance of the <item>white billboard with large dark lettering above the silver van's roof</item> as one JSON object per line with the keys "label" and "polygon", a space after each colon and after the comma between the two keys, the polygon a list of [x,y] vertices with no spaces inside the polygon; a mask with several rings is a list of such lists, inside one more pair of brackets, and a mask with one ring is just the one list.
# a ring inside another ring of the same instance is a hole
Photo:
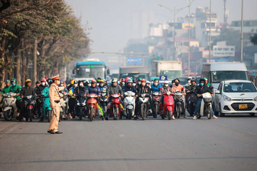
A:
{"label": "white billboard with large dark lettering above the silver van's roof", "polygon": [[235,56],[235,46],[213,46],[213,57]]}

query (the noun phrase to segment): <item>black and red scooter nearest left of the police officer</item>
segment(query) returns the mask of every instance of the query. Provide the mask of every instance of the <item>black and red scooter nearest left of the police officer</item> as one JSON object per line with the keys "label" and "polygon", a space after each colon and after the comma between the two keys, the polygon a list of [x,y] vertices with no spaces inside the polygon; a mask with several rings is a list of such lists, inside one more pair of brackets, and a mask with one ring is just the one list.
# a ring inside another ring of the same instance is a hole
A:
{"label": "black and red scooter nearest left of the police officer", "polygon": [[35,96],[34,95],[26,95],[23,99],[25,100],[25,119],[28,121],[28,118],[30,122],[32,122],[32,117],[34,113],[34,106],[35,106]]}

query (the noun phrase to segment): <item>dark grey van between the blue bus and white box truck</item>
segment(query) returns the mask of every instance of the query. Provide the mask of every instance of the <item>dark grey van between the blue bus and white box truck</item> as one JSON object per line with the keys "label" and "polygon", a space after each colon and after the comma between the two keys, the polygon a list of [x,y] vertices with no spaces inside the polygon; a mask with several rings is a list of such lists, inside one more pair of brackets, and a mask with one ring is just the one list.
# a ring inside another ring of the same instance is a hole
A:
{"label": "dark grey van between the blue bus and white box truck", "polygon": [[119,76],[118,78],[126,78],[132,77],[133,79],[137,80],[138,78],[143,78],[149,80],[149,70],[145,66],[124,66],[120,67],[119,69]]}

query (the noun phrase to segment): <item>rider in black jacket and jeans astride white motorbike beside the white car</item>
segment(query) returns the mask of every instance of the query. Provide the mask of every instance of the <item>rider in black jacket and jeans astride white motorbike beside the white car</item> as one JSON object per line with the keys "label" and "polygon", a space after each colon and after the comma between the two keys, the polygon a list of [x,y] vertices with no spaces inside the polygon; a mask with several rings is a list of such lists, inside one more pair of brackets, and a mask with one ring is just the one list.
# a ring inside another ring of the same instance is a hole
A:
{"label": "rider in black jacket and jeans astride white motorbike beside the white car", "polygon": [[[196,105],[195,105],[195,112],[194,112],[194,118],[193,119],[197,119],[196,115],[197,115],[197,111],[201,105],[203,96],[201,96],[203,93],[210,93],[211,96],[213,96],[212,91],[209,89],[208,86],[205,85],[205,79],[200,79],[200,84],[198,86],[196,86],[195,91],[194,91],[194,95],[197,96],[197,100],[196,100]],[[218,119],[214,113],[213,113],[213,109],[211,108],[211,113],[212,113],[212,118],[213,119]]]}

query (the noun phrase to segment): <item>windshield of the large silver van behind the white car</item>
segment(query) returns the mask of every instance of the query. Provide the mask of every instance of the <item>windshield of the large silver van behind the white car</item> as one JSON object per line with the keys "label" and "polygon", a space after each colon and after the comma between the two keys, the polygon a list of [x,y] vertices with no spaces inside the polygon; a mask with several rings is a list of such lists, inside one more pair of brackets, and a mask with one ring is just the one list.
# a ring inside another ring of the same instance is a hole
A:
{"label": "windshield of the large silver van behind the white car", "polygon": [[246,71],[212,71],[211,83],[220,83],[225,80],[241,79],[248,80]]}

